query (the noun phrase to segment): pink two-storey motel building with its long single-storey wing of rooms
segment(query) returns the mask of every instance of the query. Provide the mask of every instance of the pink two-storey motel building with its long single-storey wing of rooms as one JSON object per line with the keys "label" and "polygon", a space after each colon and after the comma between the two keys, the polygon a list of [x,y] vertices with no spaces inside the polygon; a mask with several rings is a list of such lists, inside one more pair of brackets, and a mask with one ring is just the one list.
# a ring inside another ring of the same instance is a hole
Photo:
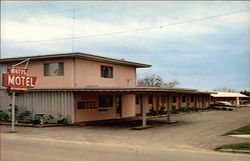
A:
{"label": "pink two-storey motel building with its long single-storey wing of rooms", "polygon": [[[37,78],[34,88],[16,94],[20,111],[68,118],[70,123],[142,116],[150,109],[206,108],[215,103],[215,92],[196,89],[137,87],[136,69],[151,65],[85,53],[66,53],[0,59],[0,76],[12,65],[29,58],[28,75]],[[24,66],[20,66],[24,67]],[[21,78],[20,78],[21,79]],[[2,80],[0,80],[2,82]],[[12,82],[14,80],[11,80]],[[32,86],[32,80],[17,80]],[[23,81],[23,82],[22,82]],[[231,97],[233,104],[236,97]],[[0,110],[10,109],[11,95],[0,87]]]}

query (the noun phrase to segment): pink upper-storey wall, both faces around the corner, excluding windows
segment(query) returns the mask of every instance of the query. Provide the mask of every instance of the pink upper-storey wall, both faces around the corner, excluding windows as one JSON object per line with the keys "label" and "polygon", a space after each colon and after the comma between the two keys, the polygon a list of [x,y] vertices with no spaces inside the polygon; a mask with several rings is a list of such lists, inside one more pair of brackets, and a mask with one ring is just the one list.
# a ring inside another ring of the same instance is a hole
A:
{"label": "pink upper-storey wall, both faces around the corner, excluding windows", "polygon": [[[45,63],[64,63],[64,76],[44,76]],[[8,64],[11,67],[13,64]],[[113,78],[101,78],[101,65],[113,67]],[[136,68],[82,59],[30,61],[29,75],[37,77],[35,88],[135,87]]]}

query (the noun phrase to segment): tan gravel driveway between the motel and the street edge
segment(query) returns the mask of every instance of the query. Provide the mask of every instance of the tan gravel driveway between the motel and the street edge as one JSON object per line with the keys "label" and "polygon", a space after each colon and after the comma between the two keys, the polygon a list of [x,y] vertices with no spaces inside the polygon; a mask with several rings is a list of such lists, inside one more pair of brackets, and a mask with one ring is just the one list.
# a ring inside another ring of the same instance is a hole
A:
{"label": "tan gravel driveway between the motel and the street edge", "polygon": [[68,126],[29,128],[16,127],[9,134],[9,126],[1,126],[2,139],[9,135],[26,139],[56,139],[73,142],[150,146],[153,148],[204,149],[227,143],[250,142],[246,138],[221,136],[223,133],[250,124],[250,107],[235,111],[206,111],[175,115],[176,124],[161,124],[166,118],[153,118],[148,124],[153,128],[131,130],[141,121],[109,122],[94,126]]}

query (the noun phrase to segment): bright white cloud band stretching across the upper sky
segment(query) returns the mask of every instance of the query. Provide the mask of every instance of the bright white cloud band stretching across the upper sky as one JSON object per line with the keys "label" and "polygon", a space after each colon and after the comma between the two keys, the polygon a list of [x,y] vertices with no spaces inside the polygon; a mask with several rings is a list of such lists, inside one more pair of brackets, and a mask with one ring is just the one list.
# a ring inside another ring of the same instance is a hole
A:
{"label": "bright white cloud band stretching across the upper sky", "polygon": [[[156,26],[155,30],[137,32],[137,36],[156,36],[164,34],[195,34],[214,33],[213,26],[187,23],[182,25],[168,26],[175,21],[168,17],[159,17],[155,23],[138,19],[125,19],[122,24],[110,24],[91,19],[75,20],[75,35],[88,36],[96,34],[130,31],[137,28]],[[72,19],[65,17],[41,16],[29,18],[27,21],[3,20],[1,23],[1,37],[3,41],[36,41],[47,39],[60,39],[72,36]],[[161,25],[163,26],[161,29]],[[134,35],[135,32],[127,33]],[[145,33],[147,33],[145,35]]]}

